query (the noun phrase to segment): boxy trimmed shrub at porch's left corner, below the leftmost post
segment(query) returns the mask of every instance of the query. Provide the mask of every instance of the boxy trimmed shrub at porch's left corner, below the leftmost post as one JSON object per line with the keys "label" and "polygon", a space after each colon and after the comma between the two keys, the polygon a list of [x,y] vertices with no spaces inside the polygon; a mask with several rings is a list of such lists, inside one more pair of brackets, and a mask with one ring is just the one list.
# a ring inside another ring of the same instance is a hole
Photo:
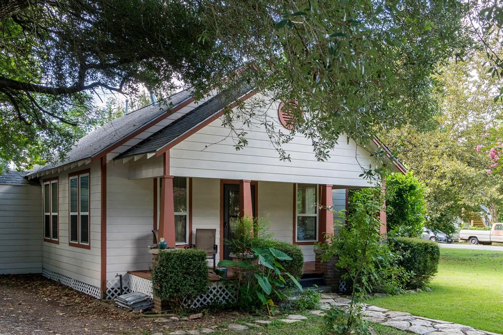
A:
{"label": "boxy trimmed shrub at porch's left corner, below the leftmost post", "polygon": [[178,249],[159,252],[152,268],[152,288],[161,300],[174,309],[183,308],[183,300],[206,293],[210,278],[206,252]]}

